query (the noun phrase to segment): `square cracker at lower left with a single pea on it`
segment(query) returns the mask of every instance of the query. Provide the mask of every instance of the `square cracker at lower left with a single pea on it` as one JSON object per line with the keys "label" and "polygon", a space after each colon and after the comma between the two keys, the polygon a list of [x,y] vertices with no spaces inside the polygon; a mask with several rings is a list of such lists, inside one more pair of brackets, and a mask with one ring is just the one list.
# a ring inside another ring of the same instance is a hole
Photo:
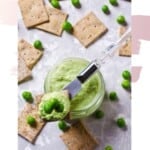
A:
{"label": "square cracker at lower left with a single pea on it", "polygon": [[[23,111],[20,113],[18,118],[18,134],[24,137],[31,143],[34,143],[40,131],[46,124],[45,121],[41,120],[38,114],[38,106],[41,101],[42,95],[36,96],[36,102],[34,105],[26,104]],[[27,124],[26,118],[28,115],[32,115],[36,119],[36,126],[31,127]]]}

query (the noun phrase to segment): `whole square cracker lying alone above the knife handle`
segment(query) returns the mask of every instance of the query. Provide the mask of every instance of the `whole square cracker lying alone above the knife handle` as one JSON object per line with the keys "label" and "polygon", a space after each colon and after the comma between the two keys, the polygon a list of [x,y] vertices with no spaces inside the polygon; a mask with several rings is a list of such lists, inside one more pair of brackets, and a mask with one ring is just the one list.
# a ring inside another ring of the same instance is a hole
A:
{"label": "whole square cracker lying alone above the knife handle", "polygon": [[76,23],[73,29],[73,34],[81,42],[81,44],[88,47],[106,31],[106,26],[93,12],[90,12],[87,16]]}

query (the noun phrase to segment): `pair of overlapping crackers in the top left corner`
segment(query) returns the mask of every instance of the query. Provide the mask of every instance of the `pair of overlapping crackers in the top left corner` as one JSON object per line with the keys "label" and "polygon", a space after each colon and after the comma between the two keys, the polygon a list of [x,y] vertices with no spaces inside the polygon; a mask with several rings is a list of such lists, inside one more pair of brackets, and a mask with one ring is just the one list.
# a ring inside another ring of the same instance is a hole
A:
{"label": "pair of overlapping crackers in the top left corner", "polygon": [[43,0],[19,0],[24,24],[57,36],[62,35],[62,24],[67,19],[63,11],[45,6]]}

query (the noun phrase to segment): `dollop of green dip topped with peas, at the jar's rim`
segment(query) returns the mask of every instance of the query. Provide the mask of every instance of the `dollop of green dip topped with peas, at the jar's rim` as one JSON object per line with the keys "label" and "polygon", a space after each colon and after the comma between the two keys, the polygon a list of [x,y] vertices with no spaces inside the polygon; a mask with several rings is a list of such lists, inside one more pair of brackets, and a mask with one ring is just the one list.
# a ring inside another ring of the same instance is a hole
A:
{"label": "dollop of green dip topped with peas, at the jar's rim", "polygon": [[70,100],[66,91],[47,93],[39,104],[39,114],[45,120],[63,119],[70,111]]}

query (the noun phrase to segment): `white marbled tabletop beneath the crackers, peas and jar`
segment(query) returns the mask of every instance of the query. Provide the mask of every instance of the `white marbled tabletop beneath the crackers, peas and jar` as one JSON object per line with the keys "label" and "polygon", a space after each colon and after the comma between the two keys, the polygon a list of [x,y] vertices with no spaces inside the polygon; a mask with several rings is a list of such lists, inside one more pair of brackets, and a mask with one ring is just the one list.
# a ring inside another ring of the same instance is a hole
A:
{"label": "white marbled tabletop beneath the crackers, peas and jar", "polygon": [[[106,16],[101,11],[102,4],[109,4],[108,0],[81,0],[82,8],[76,9],[70,1],[61,1],[62,10],[69,14],[69,21],[74,24],[88,12],[93,11],[99,19],[108,27],[109,31],[101,39],[97,40],[89,48],[85,49],[77,39],[68,33],[63,33],[62,37],[45,33],[37,29],[27,30],[22,22],[20,11],[18,9],[18,36],[29,42],[40,39],[44,45],[44,56],[33,69],[33,80],[19,85],[18,90],[18,110],[21,111],[25,102],[19,96],[22,90],[31,90],[34,94],[43,92],[43,83],[49,69],[55,63],[67,57],[82,57],[89,60],[100,57],[100,52],[111,42],[118,39],[117,30],[119,25],[116,23],[116,17],[123,14],[130,25],[130,3],[125,0],[118,0],[119,6],[110,6],[111,14]],[[48,0],[45,1],[48,3]],[[90,131],[96,136],[100,145],[97,150],[104,150],[106,145],[112,145],[114,150],[130,150],[131,146],[131,101],[130,93],[125,91],[120,83],[122,81],[121,73],[124,69],[130,69],[130,58],[114,56],[110,63],[101,68],[103,74],[106,92],[117,91],[119,101],[110,102],[105,98],[101,109],[105,116],[101,120],[92,117],[85,119]],[[114,120],[118,116],[126,118],[128,128],[126,131],[119,129]],[[21,137],[18,137],[19,150],[65,150],[66,147],[59,138],[61,131],[57,128],[57,123],[47,123],[38,136],[35,145],[30,144]]]}

